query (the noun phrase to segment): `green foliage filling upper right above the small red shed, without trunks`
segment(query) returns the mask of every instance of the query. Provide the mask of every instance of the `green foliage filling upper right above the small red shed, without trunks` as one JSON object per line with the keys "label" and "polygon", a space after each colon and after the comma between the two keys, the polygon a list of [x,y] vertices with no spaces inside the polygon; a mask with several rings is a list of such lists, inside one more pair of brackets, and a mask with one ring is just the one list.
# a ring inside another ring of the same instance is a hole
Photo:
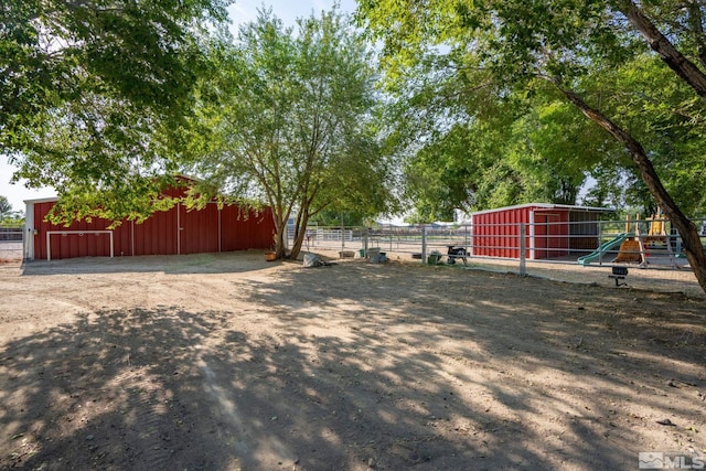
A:
{"label": "green foliage filling upper right above the small red shed, without trunks", "polygon": [[[629,2],[360,2],[359,20],[387,54],[388,88],[421,130],[407,146],[410,194],[434,216],[527,200],[654,208],[622,146],[556,84],[613,117],[648,149],[667,191],[689,214],[706,210],[704,105],[649,52],[622,11]],[[700,63],[699,3],[642,2],[668,38]],[[411,122],[411,124],[409,124]],[[469,137],[461,142],[464,129]],[[405,133],[404,136],[411,136]]]}

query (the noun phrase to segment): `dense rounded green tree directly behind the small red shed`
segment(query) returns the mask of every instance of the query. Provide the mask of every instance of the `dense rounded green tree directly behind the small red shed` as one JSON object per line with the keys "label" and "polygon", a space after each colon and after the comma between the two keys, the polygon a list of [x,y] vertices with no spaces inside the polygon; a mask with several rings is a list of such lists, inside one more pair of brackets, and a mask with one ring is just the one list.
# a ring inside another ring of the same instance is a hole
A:
{"label": "dense rounded green tree directly behind the small red shed", "polygon": [[586,146],[595,143],[595,129],[556,101],[535,103],[522,113],[504,108],[457,122],[408,160],[408,193],[421,220],[448,221],[458,207],[576,203],[598,160],[598,152]]}

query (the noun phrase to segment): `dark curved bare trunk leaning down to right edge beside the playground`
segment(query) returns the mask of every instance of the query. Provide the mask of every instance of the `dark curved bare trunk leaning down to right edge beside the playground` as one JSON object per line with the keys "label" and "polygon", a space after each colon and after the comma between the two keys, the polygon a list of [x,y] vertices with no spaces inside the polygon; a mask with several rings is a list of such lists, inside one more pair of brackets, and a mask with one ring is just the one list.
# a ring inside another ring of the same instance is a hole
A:
{"label": "dark curved bare trunk leaning down to right edge beside the playground", "polygon": [[686,253],[686,259],[692,266],[698,283],[704,291],[706,291],[706,253],[704,251],[704,247],[698,236],[698,229],[696,225],[689,221],[684,213],[682,213],[674,200],[672,200],[672,196],[662,184],[662,181],[654,170],[652,161],[642,148],[642,144],[640,144],[640,142],[638,142],[625,130],[612,122],[606,115],[588,106],[574,92],[564,89],[557,81],[554,83],[568,98],[568,100],[577,106],[581,113],[588,117],[588,119],[606,129],[613,138],[625,147],[632,158],[632,161],[640,170],[640,174],[642,175],[644,183],[648,185],[648,190],[650,190],[652,196],[655,199],[662,211],[664,211],[664,215],[680,232],[682,236],[682,246]]}

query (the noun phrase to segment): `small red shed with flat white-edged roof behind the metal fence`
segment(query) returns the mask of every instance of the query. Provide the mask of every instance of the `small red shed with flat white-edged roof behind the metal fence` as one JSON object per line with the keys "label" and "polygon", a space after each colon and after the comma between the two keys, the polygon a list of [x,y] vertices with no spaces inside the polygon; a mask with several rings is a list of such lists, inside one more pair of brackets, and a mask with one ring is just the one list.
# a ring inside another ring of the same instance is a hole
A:
{"label": "small red shed with flat white-edged roof behind the metal fence", "polygon": [[598,221],[606,207],[530,203],[471,214],[473,255],[520,258],[525,227],[525,257],[559,258],[598,247]]}

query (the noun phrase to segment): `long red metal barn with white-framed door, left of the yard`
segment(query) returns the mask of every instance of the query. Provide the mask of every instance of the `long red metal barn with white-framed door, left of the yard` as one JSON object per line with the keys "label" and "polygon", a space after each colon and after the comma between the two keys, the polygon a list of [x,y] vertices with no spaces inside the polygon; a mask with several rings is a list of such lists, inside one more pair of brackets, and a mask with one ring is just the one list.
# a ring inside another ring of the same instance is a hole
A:
{"label": "long red metal barn with white-framed door, left of the yard", "polygon": [[[165,193],[176,195],[179,190]],[[174,194],[172,194],[174,193]],[[110,221],[75,221],[56,226],[45,221],[56,199],[29,200],[25,258],[58,259],[130,255],[180,255],[216,251],[267,249],[272,247],[275,223],[270,208],[218,208],[215,202],[203,210],[188,211],[176,204],[157,212],[141,224],[124,221],[109,229]]]}

